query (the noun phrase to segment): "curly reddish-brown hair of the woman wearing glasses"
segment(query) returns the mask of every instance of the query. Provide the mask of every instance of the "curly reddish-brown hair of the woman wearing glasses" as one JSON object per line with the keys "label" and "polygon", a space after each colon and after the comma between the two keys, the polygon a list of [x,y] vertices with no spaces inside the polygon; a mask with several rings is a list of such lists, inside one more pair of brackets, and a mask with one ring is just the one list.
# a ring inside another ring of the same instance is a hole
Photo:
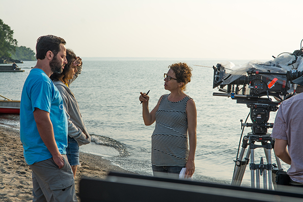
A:
{"label": "curly reddish-brown hair of the woman wearing glasses", "polygon": [[171,68],[174,71],[178,82],[183,82],[181,89],[185,91],[185,85],[190,82],[192,71],[191,67],[189,67],[186,63],[175,63],[170,65],[168,68]]}

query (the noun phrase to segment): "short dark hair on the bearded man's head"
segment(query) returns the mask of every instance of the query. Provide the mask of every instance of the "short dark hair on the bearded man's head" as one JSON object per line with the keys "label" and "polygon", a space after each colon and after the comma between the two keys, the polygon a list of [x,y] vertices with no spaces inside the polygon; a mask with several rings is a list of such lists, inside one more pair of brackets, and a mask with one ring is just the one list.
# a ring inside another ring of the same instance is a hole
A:
{"label": "short dark hair on the bearded man's head", "polygon": [[49,50],[56,56],[60,51],[60,44],[66,44],[65,40],[60,37],[53,35],[39,37],[36,44],[36,59],[45,59],[45,55]]}

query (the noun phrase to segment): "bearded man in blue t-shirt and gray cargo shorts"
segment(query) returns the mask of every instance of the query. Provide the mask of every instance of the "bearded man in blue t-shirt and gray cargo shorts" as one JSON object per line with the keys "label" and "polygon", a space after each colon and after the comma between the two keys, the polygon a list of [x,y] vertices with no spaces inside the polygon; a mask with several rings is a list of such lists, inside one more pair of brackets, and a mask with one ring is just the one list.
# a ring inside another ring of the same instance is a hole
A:
{"label": "bearded man in blue t-shirt and gray cargo shorts", "polygon": [[67,118],[62,97],[49,79],[67,64],[65,44],[52,35],[38,38],[37,64],[22,89],[20,139],[25,161],[33,170],[33,201],[77,201],[65,155]]}

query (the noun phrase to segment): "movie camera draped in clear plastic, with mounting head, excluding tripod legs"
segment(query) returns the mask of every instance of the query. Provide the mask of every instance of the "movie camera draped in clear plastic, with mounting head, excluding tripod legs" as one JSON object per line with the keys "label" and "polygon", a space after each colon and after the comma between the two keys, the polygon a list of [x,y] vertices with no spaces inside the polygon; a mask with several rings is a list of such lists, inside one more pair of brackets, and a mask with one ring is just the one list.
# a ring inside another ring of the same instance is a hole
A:
{"label": "movie camera draped in clear plastic, with mounting head, excluding tripod legs", "polygon": [[[282,55],[273,61],[261,63],[249,62],[242,67],[232,63],[213,66],[213,88],[223,93],[214,96],[226,96],[247,104],[251,108],[253,134],[266,134],[269,112],[277,111],[278,105],[295,94],[297,84],[303,84],[302,50]],[[274,100],[272,99],[274,98]]]}

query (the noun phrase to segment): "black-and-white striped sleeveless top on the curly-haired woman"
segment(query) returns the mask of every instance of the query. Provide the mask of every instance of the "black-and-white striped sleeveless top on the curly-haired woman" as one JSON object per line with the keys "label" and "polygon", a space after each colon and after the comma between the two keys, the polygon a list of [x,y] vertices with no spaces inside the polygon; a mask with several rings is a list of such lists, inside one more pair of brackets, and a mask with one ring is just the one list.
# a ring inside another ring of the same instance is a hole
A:
{"label": "black-and-white striped sleeveless top on the curly-haired woman", "polygon": [[151,161],[155,166],[185,166],[189,154],[186,104],[191,98],[172,102],[169,95],[162,97],[155,114]]}

